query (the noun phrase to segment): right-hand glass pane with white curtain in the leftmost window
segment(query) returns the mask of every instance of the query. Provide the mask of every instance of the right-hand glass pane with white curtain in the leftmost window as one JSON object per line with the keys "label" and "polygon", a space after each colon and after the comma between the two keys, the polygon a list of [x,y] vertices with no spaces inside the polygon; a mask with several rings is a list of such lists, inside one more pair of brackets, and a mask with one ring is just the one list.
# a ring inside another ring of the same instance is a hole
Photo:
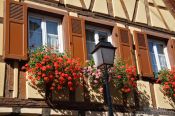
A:
{"label": "right-hand glass pane with white curtain in the leftmost window", "polygon": [[47,30],[47,46],[54,49],[59,49],[58,23],[46,21],[46,30]]}

